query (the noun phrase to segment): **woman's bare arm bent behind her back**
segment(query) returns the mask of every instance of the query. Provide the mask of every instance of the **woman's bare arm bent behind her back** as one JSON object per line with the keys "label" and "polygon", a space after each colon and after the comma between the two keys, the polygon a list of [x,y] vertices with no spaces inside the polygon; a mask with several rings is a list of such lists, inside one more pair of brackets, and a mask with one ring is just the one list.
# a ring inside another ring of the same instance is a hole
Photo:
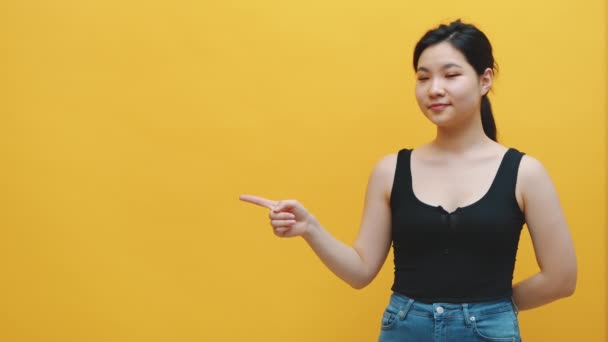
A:
{"label": "woman's bare arm bent behind her back", "polygon": [[516,284],[513,298],[521,310],[570,296],[576,287],[576,256],[555,187],[542,164],[524,156],[520,190],[526,222],[540,272]]}

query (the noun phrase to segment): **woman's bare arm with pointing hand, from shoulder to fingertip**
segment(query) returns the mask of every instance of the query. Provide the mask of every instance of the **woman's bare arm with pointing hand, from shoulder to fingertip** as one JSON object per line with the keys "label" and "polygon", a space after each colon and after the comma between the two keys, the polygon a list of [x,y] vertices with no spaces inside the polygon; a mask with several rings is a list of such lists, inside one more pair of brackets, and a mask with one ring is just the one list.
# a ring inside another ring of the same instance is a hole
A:
{"label": "woman's bare arm with pointing hand, from shoulder to fingertip", "polygon": [[302,236],[335,275],[360,289],[378,274],[390,248],[389,196],[395,164],[396,155],[387,156],[372,171],[361,226],[353,246],[335,239],[295,200],[274,202],[248,195],[241,196],[241,200],[271,209],[269,217],[276,235]]}

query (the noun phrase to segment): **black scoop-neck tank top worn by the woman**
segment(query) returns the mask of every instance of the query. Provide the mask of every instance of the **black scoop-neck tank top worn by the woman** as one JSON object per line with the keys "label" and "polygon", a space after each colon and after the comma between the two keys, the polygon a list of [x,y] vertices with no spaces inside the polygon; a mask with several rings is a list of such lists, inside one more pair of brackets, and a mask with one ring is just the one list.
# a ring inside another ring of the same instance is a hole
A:
{"label": "black scoop-neck tank top worn by the woman", "polygon": [[465,303],[512,295],[525,217],[515,184],[523,153],[510,148],[488,192],[449,213],[412,190],[411,150],[399,151],[390,205],[395,263],[392,290],[426,303]]}

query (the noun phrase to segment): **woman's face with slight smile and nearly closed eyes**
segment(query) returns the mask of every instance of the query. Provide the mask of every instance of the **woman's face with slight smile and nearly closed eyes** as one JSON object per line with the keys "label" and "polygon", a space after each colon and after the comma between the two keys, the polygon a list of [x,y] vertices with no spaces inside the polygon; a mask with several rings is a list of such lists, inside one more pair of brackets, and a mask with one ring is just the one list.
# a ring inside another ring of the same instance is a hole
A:
{"label": "woman's face with slight smile and nearly closed eyes", "polygon": [[480,77],[464,55],[448,42],[426,48],[418,59],[416,100],[438,126],[480,117],[481,96],[492,85],[492,70]]}

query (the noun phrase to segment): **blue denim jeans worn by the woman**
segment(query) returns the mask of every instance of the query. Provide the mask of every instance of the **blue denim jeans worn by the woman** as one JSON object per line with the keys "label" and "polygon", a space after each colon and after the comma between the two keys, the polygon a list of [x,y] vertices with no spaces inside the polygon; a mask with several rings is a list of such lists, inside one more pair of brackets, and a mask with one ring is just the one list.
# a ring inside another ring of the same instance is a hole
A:
{"label": "blue denim jeans worn by the woman", "polygon": [[427,304],[393,293],[379,342],[521,342],[513,299]]}

